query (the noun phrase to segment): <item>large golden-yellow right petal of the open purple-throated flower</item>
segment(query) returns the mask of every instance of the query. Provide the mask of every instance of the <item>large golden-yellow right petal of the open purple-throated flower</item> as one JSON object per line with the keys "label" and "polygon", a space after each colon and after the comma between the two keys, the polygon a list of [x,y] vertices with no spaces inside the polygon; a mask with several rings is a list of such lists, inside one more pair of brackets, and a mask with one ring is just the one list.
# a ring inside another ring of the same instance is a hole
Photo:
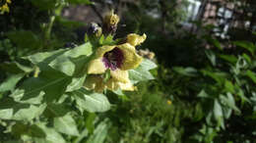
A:
{"label": "large golden-yellow right petal of the open purple-throated flower", "polygon": [[118,48],[123,52],[124,60],[120,67],[120,70],[127,71],[136,69],[142,62],[143,58],[136,53],[135,47],[125,43],[117,45]]}

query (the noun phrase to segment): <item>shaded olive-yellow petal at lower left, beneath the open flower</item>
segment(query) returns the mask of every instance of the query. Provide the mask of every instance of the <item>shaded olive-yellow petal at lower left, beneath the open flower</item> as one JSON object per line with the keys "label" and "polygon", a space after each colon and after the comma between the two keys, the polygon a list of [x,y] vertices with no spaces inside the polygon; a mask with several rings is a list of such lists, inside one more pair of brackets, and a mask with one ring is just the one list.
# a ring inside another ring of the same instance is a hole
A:
{"label": "shaded olive-yellow petal at lower left, beneath the open flower", "polygon": [[103,92],[105,84],[100,75],[89,75],[85,81],[85,87],[89,90],[95,89],[96,92]]}

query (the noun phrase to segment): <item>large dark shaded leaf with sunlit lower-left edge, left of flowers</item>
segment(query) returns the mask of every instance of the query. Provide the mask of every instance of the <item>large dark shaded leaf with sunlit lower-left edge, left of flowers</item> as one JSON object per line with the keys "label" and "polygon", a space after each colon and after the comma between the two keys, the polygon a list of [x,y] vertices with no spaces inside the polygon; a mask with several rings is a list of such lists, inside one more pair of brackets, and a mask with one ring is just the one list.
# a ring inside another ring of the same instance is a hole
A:
{"label": "large dark shaded leaf with sunlit lower-left edge, left of flowers", "polygon": [[57,71],[45,74],[42,72],[39,77],[31,77],[25,80],[10,96],[21,103],[38,104],[42,96],[46,101],[52,102],[58,100],[64,94],[70,81],[71,78],[63,76]]}

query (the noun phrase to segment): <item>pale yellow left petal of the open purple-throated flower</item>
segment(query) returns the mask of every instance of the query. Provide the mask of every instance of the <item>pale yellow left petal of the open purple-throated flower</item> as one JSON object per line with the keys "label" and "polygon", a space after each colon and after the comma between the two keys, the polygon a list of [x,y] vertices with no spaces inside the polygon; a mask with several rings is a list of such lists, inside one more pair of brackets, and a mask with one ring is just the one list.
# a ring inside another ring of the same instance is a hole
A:
{"label": "pale yellow left petal of the open purple-throated flower", "polygon": [[100,74],[106,71],[102,58],[98,58],[90,61],[88,65],[88,73],[89,74]]}

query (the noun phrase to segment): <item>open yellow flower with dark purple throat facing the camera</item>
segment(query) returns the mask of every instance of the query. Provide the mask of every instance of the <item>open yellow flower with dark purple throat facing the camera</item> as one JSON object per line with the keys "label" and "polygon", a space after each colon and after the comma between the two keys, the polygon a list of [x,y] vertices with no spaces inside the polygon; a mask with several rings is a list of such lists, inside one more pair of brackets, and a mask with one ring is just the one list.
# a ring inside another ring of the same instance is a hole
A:
{"label": "open yellow flower with dark purple throat facing the camera", "polygon": [[128,70],[137,68],[142,57],[136,53],[135,47],[125,43],[116,46],[102,46],[96,49],[95,59],[89,63],[89,74],[101,74],[107,69],[114,80],[129,82]]}

